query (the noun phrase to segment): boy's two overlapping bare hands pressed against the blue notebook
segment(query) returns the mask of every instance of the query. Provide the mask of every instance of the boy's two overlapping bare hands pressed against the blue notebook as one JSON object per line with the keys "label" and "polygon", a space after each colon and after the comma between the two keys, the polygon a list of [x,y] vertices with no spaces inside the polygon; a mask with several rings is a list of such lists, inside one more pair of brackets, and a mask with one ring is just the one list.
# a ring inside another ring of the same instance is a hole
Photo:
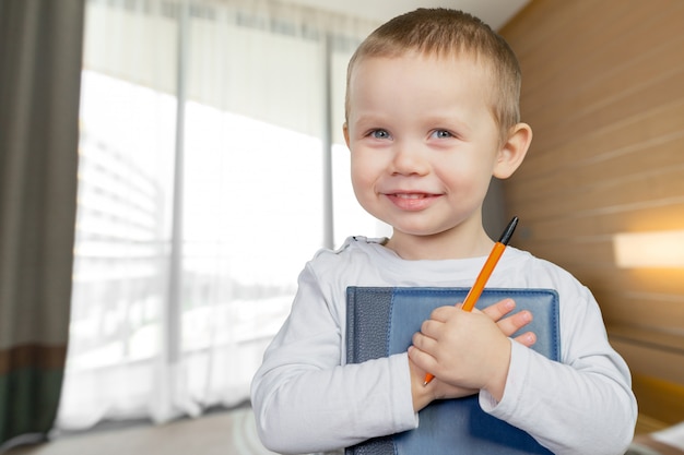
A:
{"label": "boy's two overlapping bare hands pressed against the blue notebook", "polygon": [[[514,309],[515,302],[505,299],[472,313],[462,311],[461,306],[433,312],[409,348],[416,411],[433,399],[472,395],[480,388],[502,398],[510,361],[508,336],[532,320],[529,311],[504,318]],[[516,340],[529,347],[536,338],[528,332]],[[436,378],[423,385],[426,371]]]}

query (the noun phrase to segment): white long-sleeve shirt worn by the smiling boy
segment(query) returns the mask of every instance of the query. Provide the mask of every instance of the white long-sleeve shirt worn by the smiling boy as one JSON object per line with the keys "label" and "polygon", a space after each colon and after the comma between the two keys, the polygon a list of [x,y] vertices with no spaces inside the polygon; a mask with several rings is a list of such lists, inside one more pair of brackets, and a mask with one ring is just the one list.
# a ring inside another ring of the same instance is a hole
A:
{"label": "white long-sleeve shirt worn by the smiling boy", "polygon": [[[349,238],[337,251],[320,250],[299,275],[292,312],[252,382],[268,448],[329,451],[418,424],[405,352],[346,364],[346,287],[470,287],[486,258],[406,261],[381,243]],[[511,247],[487,287],[556,289],[562,352],[554,362],[511,342],[504,397],[496,402],[481,391],[481,407],[554,454],[624,454],[636,399],[591,292],[561,267]]]}

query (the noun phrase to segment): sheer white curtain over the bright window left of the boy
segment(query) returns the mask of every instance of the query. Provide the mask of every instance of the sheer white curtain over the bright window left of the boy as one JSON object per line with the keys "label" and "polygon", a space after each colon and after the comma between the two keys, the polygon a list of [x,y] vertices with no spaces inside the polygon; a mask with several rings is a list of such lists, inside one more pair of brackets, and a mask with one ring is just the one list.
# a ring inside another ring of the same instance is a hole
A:
{"label": "sheer white curtain over the bright window left of the boy", "polygon": [[335,243],[379,234],[339,133],[346,61],[375,25],[271,1],[87,2],[57,428],[248,399],[323,243],[328,148]]}

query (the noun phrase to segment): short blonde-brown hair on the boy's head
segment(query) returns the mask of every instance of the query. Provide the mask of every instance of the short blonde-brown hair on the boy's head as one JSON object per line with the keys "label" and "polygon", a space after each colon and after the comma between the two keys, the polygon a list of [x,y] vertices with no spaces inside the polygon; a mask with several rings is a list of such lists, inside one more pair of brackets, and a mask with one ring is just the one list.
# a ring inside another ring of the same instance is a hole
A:
{"label": "short blonde-brown hair on the boy's head", "polygon": [[418,9],[373,32],[352,56],[346,72],[345,119],[350,113],[350,79],[365,58],[401,57],[417,51],[436,57],[465,55],[492,70],[492,109],[502,139],[520,121],[520,65],[508,43],[480,19],[462,11]]}

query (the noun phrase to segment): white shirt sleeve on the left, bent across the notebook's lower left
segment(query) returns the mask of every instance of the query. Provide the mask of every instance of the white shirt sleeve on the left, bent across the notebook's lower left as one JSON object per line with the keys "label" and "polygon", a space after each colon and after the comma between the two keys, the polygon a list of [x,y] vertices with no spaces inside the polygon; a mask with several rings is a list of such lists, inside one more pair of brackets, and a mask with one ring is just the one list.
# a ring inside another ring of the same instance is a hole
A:
{"label": "white shirt sleeve on the left, bent across the notebook's lower left", "polygon": [[344,314],[307,266],[292,312],[252,381],[267,448],[329,451],[417,426],[406,354],[343,364],[340,320]]}

